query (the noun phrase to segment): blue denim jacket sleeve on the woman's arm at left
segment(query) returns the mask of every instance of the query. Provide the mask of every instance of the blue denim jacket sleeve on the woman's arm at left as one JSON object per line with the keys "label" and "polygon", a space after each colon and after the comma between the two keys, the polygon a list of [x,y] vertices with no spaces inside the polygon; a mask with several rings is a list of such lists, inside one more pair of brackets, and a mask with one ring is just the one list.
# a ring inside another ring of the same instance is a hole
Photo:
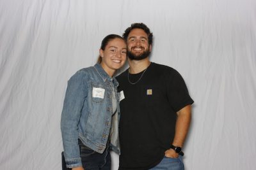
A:
{"label": "blue denim jacket sleeve on the woman's arm at left", "polygon": [[78,145],[78,124],[84,100],[88,94],[87,76],[77,71],[68,80],[68,87],[61,113],[61,135],[67,167],[82,166]]}

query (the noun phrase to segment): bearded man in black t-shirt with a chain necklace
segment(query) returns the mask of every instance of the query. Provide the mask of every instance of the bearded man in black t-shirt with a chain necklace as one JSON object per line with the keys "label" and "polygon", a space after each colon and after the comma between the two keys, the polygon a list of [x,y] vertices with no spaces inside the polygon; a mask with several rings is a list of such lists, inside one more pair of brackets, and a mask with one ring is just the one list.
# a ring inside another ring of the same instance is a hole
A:
{"label": "bearded man in black t-shirt with a chain necklace", "polygon": [[120,86],[119,169],[184,169],[182,145],[193,100],[175,69],[150,62],[152,32],[142,23],[124,32],[129,69]]}

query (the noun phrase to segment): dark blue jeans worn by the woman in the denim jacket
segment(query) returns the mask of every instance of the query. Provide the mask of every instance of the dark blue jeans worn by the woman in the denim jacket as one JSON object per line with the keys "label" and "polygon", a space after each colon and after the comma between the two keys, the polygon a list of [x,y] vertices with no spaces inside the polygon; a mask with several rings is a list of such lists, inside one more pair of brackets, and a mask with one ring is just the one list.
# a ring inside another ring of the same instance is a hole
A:
{"label": "dark blue jeans worn by the woman in the denim jacket", "polygon": [[109,153],[109,145],[107,143],[106,149],[103,153],[97,153],[94,150],[84,146],[78,140],[80,149],[80,157],[82,159],[83,168],[86,170],[110,170],[111,169],[111,155]]}

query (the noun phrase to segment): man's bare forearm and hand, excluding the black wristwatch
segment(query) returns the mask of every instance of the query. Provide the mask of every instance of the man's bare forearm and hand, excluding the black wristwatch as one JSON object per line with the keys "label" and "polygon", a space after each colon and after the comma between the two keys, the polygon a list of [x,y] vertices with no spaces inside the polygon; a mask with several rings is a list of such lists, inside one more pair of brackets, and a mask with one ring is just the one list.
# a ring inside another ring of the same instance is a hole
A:
{"label": "man's bare forearm and hand, excluding the black wristwatch", "polygon": [[[191,121],[191,105],[185,106],[177,112],[177,120],[175,125],[175,136],[173,139],[173,146],[182,147],[189,130],[189,124]],[[179,157],[179,154],[173,149],[166,150],[166,157]]]}

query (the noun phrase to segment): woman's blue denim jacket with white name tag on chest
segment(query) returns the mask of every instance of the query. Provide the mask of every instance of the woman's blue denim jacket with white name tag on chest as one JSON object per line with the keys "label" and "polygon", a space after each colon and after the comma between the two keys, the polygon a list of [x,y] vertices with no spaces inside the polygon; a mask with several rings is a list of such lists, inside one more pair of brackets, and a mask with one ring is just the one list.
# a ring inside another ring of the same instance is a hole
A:
{"label": "woman's blue denim jacket with white name tag on chest", "polygon": [[[116,91],[118,82],[109,77],[100,64],[81,69],[68,80],[61,113],[67,167],[82,166],[78,138],[95,152],[104,152],[113,114],[111,84],[114,84]],[[115,94],[119,120],[119,94]],[[119,146],[112,146],[112,150],[120,152]]]}

